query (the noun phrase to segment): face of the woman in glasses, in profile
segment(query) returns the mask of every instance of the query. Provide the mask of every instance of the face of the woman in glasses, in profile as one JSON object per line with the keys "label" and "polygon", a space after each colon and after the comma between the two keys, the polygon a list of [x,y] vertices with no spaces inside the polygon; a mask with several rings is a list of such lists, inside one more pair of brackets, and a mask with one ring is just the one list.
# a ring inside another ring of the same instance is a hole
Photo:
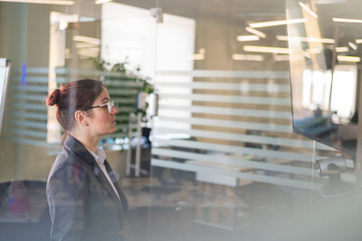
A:
{"label": "face of the woman in glasses, in profile", "polygon": [[[98,98],[93,102],[92,106],[102,105],[110,102],[109,92],[103,88]],[[92,109],[92,114],[88,117],[90,130],[95,135],[107,135],[116,131],[116,114],[119,110],[116,107],[112,107],[111,113],[108,111],[107,105],[104,107]]]}

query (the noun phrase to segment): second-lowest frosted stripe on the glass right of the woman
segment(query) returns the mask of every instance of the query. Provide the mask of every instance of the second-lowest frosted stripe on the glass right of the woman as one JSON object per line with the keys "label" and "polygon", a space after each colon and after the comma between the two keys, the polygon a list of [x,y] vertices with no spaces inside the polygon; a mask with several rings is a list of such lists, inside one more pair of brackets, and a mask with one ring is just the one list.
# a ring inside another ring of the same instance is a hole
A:
{"label": "second-lowest frosted stripe on the glass right of the woman", "polygon": [[[264,170],[285,172],[290,174],[306,175],[306,176],[310,176],[311,173],[311,170],[306,168],[298,168],[287,165],[266,163],[255,160],[248,160],[248,159],[233,159],[224,155],[214,156],[214,155],[198,154],[189,151],[180,151],[173,149],[154,148],[152,149],[152,155],[167,156],[177,159],[201,160],[206,162],[214,162],[225,166],[231,165],[233,167],[241,168],[240,171],[242,171],[242,168],[252,168],[252,169],[264,169]],[[317,177],[318,172],[315,171],[314,175]]]}

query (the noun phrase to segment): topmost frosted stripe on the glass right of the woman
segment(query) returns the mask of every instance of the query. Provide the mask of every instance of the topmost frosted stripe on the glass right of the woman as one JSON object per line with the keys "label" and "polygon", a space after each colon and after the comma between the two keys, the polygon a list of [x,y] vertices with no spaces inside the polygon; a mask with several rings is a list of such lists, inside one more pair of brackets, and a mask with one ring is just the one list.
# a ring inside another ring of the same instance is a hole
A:
{"label": "topmost frosted stripe on the glass right of the woman", "polygon": [[275,71],[157,71],[160,76],[188,76],[199,78],[249,78],[249,79],[288,79],[289,72]]}

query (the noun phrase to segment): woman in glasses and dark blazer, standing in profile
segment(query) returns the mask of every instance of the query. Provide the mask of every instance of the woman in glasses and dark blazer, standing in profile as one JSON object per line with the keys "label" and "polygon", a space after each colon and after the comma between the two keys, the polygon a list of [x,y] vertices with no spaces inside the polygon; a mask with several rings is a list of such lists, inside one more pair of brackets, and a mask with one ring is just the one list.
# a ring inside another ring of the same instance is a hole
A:
{"label": "woman in glasses and dark blazer, standing in profile", "polygon": [[116,130],[119,111],[109,92],[100,81],[68,82],[47,105],[57,106],[67,134],[46,186],[52,240],[123,240],[127,199],[97,147],[101,136]]}

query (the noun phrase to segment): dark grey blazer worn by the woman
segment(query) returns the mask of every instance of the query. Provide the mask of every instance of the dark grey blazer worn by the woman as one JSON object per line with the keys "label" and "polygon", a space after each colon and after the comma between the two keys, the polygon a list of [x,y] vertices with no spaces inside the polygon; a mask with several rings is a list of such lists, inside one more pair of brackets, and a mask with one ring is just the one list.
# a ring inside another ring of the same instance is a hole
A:
{"label": "dark grey blazer worn by the woman", "polygon": [[123,240],[128,202],[113,184],[120,200],[90,152],[68,135],[46,185],[51,240]]}

